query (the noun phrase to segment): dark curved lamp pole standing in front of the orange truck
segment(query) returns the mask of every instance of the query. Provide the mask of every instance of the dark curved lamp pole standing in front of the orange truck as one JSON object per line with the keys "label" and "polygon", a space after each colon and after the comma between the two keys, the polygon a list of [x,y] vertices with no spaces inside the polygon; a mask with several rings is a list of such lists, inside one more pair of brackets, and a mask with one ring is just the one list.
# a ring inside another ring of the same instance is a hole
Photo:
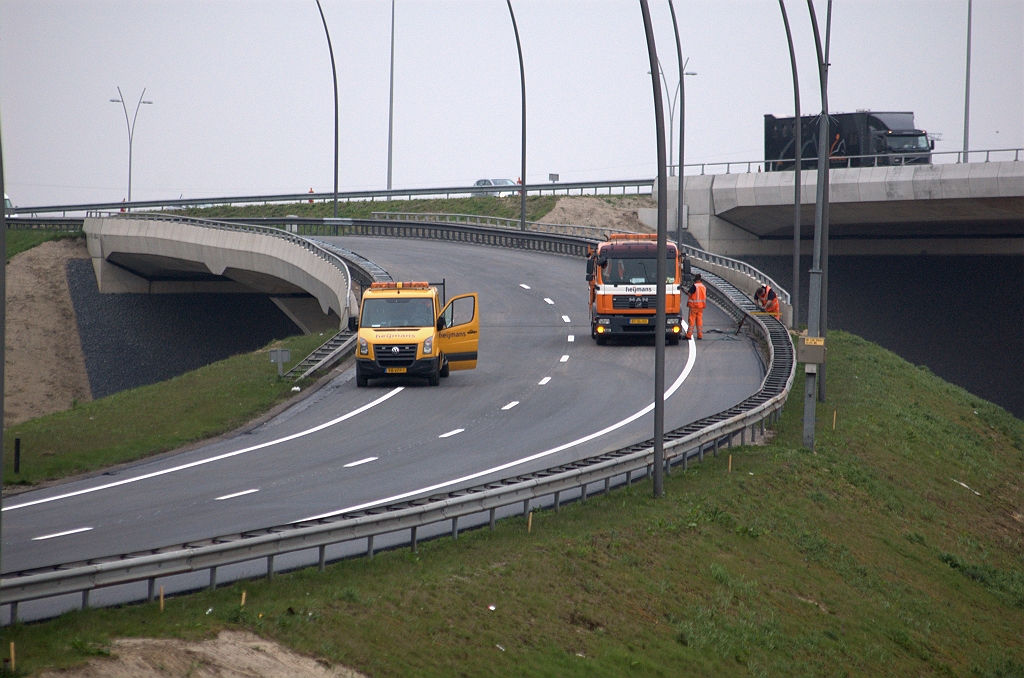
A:
{"label": "dark curved lamp pole standing in front of the orange truck", "polygon": [[[647,0],[640,0],[644,32],[647,35],[647,56],[650,59],[650,80],[654,90],[654,127],[657,143],[657,314],[654,321],[654,497],[665,495],[665,277],[668,254],[668,196],[669,177],[666,171],[665,112],[662,103],[662,83],[657,77],[657,48],[654,29],[650,22]],[[680,76],[682,79],[682,76]]]}

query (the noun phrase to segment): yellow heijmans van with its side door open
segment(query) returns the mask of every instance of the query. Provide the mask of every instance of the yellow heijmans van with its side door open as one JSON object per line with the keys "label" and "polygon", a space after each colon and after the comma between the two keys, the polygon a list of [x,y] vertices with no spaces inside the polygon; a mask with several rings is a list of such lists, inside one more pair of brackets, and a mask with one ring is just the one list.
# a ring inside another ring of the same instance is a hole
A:
{"label": "yellow heijmans van with its side door open", "polygon": [[422,378],[437,386],[453,370],[476,368],[480,316],[475,292],[444,303],[429,283],[374,283],[348,327],[357,333],[358,387],[384,377]]}

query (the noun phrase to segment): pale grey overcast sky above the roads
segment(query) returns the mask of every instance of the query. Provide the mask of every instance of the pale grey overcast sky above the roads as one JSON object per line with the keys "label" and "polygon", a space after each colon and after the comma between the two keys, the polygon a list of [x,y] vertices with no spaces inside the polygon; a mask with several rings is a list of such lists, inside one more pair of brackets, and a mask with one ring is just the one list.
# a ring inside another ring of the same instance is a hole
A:
{"label": "pale grey overcast sky above the roads", "polygon": [[[340,188],[387,182],[389,0],[322,0],[341,97]],[[651,0],[671,87],[668,2]],[[396,188],[519,175],[515,39],[502,0],[397,0]],[[788,0],[804,114],[820,110],[806,2]],[[817,0],[824,24],[825,2]],[[647,47],[635,0],[514,0],[526,71],[527,180],[656,174]],[[1024,3],[973,4],[971,147],[1024,146]],[[760,160],[764,115],[793,115],[776,0],[678,0],[686,162]],[[963,147],[967,0],[836,0],[836,112],[912,111]],[[331,62],[313,0],[0,0],[0,132],[16,205],[126,196],[333,188]],[[678,113],[677,113],[678,116]],[[678,117],[676,118],[678,125]],[[676,141],[678,143],[678,141]]]}

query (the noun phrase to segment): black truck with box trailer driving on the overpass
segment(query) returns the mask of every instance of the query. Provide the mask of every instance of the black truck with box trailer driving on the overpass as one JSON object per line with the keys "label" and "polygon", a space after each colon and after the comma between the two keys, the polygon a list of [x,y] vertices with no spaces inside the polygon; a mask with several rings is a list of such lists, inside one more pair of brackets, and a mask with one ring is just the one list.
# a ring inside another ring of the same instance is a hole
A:
{"label": "black truck with box trailer driving on the overpass", "polygon": [[[818,120],[801,118],[801,166],[817,166]],[[796,164],[796,118],[765,116],[765,170],[792,170]],[[931,165],[935,142],[913,125],[912,113],[837,113],[828,116],[831,167]]]}

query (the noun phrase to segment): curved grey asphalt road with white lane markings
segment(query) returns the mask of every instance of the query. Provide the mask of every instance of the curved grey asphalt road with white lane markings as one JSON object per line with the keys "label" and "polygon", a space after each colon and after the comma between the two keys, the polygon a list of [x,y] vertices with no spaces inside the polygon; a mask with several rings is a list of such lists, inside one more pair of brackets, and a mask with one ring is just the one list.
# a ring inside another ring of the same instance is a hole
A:
{"label": "curved grey asphalt road with white lane markings", "polygon": [[[334,240],[334,239],[327,239]],[[337,239],[396,280],[480,295],[478,368],[439,387],[353,372],[248,434],[3,502],[2,571],[143,551],[478,484],[649,437],[652,345],[590,338],[584,262],[473,245]],[[715,307],[667,348],[666,424],[760,387],[749,340]],[[692,365],[687,369],[691,351]]]}

